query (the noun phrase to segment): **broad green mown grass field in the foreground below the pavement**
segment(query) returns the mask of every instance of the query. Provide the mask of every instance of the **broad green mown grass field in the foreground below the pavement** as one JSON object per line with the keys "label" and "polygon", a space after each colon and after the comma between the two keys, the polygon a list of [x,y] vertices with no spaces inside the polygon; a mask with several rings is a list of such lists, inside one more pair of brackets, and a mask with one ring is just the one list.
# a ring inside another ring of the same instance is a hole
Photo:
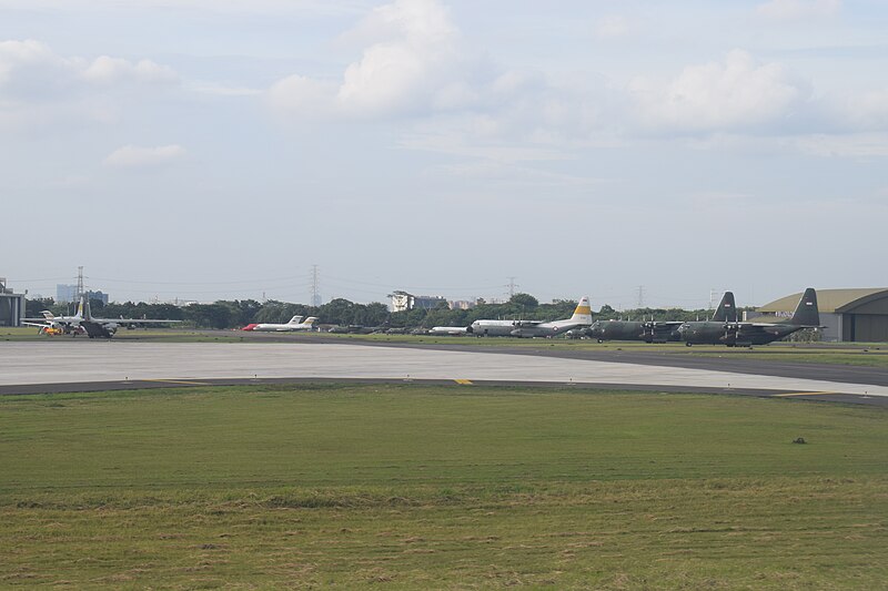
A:
{"label": "broad green mown grass field in the foreground below the pavement", "polygon": [[42,395],[0,398],[0,587],[888,580],[878,408],[420,385]]}

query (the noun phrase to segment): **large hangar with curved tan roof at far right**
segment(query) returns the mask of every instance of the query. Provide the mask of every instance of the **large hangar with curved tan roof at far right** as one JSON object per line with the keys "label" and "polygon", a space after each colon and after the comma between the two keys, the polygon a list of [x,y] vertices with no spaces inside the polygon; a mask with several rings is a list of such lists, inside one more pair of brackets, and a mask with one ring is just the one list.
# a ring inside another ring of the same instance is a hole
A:
{"label": "large hangar with curved tan roof at far right", "polygon": [[[788,295],[757,312],[789,317],[800,297]],[[823,340],[888,343],[888,288],[817,289],[817,307]]]}

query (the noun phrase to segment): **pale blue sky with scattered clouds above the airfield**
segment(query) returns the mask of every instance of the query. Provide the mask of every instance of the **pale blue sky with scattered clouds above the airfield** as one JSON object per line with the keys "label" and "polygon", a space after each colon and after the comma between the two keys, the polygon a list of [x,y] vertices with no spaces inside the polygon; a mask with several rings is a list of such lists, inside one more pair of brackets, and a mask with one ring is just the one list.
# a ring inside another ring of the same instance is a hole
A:
{"label": "pale blue sky with scattered clouds above the airfield", "polygon": [[881,0],[1,0],[0,276],[113,300],[888,286]]}

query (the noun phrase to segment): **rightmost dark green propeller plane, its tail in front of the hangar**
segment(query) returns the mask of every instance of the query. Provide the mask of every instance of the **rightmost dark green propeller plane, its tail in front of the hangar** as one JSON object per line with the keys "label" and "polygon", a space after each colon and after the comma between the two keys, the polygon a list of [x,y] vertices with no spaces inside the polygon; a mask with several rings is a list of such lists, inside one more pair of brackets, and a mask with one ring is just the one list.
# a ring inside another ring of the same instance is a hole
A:
{"label": "rightmost dark green propeller plane, its tail in front of the hangar", "polygon": [[[727,295],[727,294],[725,294]],[[803,328],[817,328],[820,313],[817,309],[817,292],[808,287],[786,322],[746,323],[734,319],[707,323],[685,323],[678,327],[682,340],[688,347],[697,344],[727,345],[728,347],[751,347],[766,345],[791,335]]]}

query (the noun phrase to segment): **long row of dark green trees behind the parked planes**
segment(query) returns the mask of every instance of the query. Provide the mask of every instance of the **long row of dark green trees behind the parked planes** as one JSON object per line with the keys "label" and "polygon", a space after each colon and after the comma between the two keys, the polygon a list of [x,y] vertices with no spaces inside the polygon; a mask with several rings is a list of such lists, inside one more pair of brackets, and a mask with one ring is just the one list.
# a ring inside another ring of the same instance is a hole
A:
{"label": "long row of dark green trees behind the parked planes", "polygon": [[[385,304],[356,304],[336,298],[321,306],[306,306],[269,299],[220,299],[212,304],[148,304],[145,302],[111,303],[103,305],[99,299],[90,300],[93,316],[101,318],[165,318],[182,320],[195,328],[239,328],[251,323],[285,323],[293,316],[315,316],[317,324],[339,326],[379,326],[390,328],[431,328],[433,326],[468,326],[478,319],[525,319],[556,320],[568,318],[577,303],[569,299],[555,299],[548,304],[529,294],[515,294],[505,303],[486,303],[483,299],[470,309],[450,309],[442,302],[433,309],[417,308],[408,312],[389,312]],[[54,315],[71,315],[75,305],[56,303],[52,298],[28,299],[26,315],[39,317],[44,309]],[[712,310],[680,308],[639,308],[617,312],[603,305],[601,312],[593,313],[594,319],[649,319],[694,320],[708,318]]]}

